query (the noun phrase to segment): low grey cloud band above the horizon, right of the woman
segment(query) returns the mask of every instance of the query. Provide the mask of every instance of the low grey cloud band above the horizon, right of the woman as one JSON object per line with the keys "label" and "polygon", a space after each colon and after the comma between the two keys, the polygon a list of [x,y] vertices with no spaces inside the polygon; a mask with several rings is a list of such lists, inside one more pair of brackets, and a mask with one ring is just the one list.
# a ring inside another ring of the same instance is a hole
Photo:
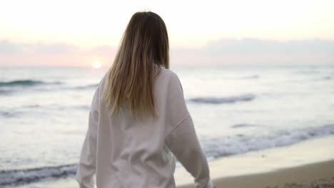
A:
{"label": "low grey cloud band above the horizon, right of the woman", "polygon": [[172,58],[188,64],[328,64],[334,63],[334,41],[224,38],[200,48],[172,50]]}

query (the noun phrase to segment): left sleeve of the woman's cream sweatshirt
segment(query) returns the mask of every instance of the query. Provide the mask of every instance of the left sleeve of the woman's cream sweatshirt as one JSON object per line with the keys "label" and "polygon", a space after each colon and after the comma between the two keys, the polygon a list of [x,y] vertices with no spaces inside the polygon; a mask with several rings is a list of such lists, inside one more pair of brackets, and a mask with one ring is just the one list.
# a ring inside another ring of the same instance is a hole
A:
{"label": "left sleeve of the woman's cream sweatshirt", "polygon": [[96,143],[98,130],[98,91],[96,89],[88,116],[88,130],[81,149],[79,167],[76,171],[76,181],[81,188],[93,187],[93,175],[96,172]]}

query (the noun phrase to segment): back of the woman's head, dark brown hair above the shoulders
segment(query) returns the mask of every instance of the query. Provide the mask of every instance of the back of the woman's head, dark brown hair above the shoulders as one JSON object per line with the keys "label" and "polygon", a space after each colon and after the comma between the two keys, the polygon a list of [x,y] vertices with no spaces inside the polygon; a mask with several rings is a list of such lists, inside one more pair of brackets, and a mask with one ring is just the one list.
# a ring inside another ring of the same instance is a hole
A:
{"label": "back of the woman's head, dark brown hair above the shoulders", "polygon": [[123,34],[121,50],[146,56],[154,61],[150,63],[168,68],[168,49],[167,28],[161,17],[151,11],[133,14]]}

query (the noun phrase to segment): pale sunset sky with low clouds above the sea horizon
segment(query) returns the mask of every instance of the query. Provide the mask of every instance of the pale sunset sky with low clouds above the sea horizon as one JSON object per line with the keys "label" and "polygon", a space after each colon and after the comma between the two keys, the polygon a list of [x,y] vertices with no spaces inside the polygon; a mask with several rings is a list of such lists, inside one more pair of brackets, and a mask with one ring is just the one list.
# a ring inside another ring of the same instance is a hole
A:
{"label": "pale sunset sky with low clouds above the sea horizon", "polygon": [[165,21],[171,65],[334,64],[334,1],[1,1],[0,66],[110,66],[136,11]]}

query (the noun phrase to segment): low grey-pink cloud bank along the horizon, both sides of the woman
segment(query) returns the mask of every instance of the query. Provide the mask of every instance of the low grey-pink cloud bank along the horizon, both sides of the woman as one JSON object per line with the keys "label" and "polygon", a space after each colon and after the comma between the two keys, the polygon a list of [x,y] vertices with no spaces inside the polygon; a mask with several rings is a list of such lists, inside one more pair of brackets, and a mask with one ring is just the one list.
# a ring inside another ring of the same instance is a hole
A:
{"label": "low grey-pink cloud bank along the horizon, both sides of the woman", "polygon": [[[109,66],[115,54],[113,46],[0,41],[0,66],[90,66],[93,61]],[[334,64],[334,41],[223,38],[199,48],[171,46],[171,65],[183,64]]]}

